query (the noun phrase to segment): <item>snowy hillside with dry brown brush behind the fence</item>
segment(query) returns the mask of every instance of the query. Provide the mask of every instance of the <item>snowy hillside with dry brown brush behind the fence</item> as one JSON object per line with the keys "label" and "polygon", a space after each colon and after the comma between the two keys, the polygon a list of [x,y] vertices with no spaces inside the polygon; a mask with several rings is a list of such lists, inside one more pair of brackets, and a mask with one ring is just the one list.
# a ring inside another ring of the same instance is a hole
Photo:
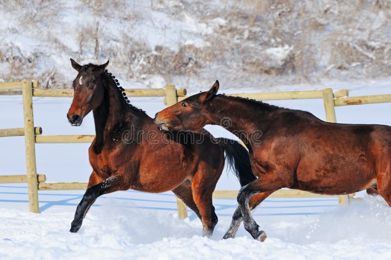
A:
{"label": "snowy hillside with dry brown brush behind the fence", "polygon": [[264,89],[390,76],[391,5],[374,0],[0,0],[0,80],[70,87],[69,58],[125,87]]}

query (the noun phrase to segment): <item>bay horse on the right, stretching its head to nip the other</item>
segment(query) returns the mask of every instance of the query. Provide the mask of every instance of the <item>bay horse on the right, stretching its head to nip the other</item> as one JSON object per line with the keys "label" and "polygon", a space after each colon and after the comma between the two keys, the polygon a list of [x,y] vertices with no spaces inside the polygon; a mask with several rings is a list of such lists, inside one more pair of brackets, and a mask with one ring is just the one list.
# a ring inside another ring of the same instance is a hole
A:
{"label": "bay horse on the right, stretching its head to nip the other", "polygon": [[250,210],[281,188],[325,195],[367,189],[391,206],[390,126],[328,123],[306,111],[217,95],[218,88],[216,81],[209,91],[158,112],[155,123],[162,130],[221,125],[247,146],[258,178],[239,190],[224,238],[234,238],[243,220],[251,236],[263,241],[266,234]]}

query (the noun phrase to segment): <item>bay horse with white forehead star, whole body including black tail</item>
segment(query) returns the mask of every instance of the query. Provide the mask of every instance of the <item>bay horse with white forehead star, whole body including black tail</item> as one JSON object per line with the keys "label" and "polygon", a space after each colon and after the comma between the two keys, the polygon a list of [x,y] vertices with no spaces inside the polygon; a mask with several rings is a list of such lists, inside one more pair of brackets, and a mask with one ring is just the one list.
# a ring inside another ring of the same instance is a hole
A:
{"label": "bay horse with white forehead star, whole body including black tail", "polygon": [[96,136],[88,150],[93,171],[70,232],[80,229],[100,195],[172,190],[201,219],[203,236],[211,236],[217,224],[212,193],[224,167],[224,152],[243,186],[256,178],[247,150],[236,141],[214,139],[206,130],[163,133],[144,111],[130,105],[118,80],[106,70],[109,61],[79,65],[71,59],[71,64],[78,75],[68,121],[80,126],[92,110]]}

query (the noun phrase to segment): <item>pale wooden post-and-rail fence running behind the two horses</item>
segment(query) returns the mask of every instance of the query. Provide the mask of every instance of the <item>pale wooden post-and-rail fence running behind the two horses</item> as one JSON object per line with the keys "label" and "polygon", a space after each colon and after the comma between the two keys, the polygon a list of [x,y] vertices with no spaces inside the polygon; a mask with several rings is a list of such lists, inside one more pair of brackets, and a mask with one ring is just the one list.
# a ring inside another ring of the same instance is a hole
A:
{"label": "pale wooden post-and-rail fence running behind the two horses", "polygon": [[[34,128],[32,97],[73,97],[73,90],[70,89],[38,89],[37,81],[6,82],[0,83],[0,90],[3,93],[19,94],[22,89],[24,128],[2,129],[1,136],[25,136],[26,150],[26,175],[0,175],[0,183],[27,182],[29,194],[29,207],[31,212],[39,212],[38,190],[85,190],[87,182],[58,182],[48,183],[46,176],[37,175],[35,143],[91,143],[94,135],[42,135],[42,128]],[[186,89],[175,89],[168,86],[165,89],[126,89],[128,96],[133,97],[165,97],[165,105],[171,106],[186,98]],[[0,93],[1,94],[1,93]],[[238,93],[230,96],[248,97],[257,100],[294,100],[294,99],[323,99],[326,112],[326,121],[336,122],[335,106],[361,105],[373,103],[391,102],[389,95],[371,95],[361,97],[348,97],[348,90],[343,89],[333,93],[331,88],[310,91],[284,91],[270,93]],[[215,191],[214,198],[236,198],[238,191]],[[351,195],[318,195],[299,190],[279,190],[269,197],[338,197],[340,205],[348,205]],[[178,217],[187,217],[186,205],[177,199]]]}

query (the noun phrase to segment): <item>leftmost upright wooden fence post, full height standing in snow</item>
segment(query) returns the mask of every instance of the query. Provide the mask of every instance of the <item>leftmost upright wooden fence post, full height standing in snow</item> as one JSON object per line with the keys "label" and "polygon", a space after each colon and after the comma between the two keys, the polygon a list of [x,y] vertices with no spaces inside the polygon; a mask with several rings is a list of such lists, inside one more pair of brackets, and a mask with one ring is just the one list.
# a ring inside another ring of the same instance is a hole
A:
{"label": "leftmost upright wooden fence post, full height standing in snow", "polygon": [[28,203],[30,212],[39,213],[38,180],[35,161],[35,132],[33,117],[33,89],[31,81],[23,81],[22,87],[23,117],[24,117],[24,143],[26,150]]}

